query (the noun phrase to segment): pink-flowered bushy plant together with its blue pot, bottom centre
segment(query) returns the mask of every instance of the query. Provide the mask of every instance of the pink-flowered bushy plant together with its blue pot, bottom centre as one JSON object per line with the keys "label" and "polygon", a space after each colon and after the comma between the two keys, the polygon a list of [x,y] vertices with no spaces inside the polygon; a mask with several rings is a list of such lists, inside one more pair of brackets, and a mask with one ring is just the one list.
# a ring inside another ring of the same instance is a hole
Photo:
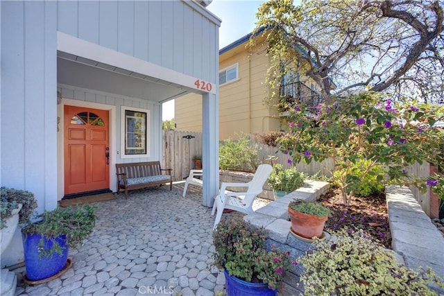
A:
{"label": "pink-flowered bushy plant together with its blue pot, bottom centre", "polygon": [[276,295],[289,268],[287,252],[264,248],[266,230],[244,220],[225,220],[213,232],[214,264],[225,272],[228,296]]}

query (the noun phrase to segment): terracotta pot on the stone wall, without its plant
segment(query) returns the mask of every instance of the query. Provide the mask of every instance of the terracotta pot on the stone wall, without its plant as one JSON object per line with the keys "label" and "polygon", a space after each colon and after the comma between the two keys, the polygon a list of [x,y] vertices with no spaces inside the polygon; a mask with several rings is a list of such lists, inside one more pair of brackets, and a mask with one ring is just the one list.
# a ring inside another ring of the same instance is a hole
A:
{"label": "terracotta pot on the stone wall, without its plant", "polygon": [[321,238],[328,216],[319,217],[304,214],[291,209],[291,207],[288,207],[288,211],[291,220],[291,229],[293,229],[295,234],[305,238],[313,238],[314,236]]}

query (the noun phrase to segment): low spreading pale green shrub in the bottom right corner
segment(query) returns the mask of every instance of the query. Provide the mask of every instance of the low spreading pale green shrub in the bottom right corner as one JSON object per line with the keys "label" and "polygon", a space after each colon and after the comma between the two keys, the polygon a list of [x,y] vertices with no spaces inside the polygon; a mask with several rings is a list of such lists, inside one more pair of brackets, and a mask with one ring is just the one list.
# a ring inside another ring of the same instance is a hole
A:
{"label": "low spreading pale green shrub in the bottom right corner", "polygon": [[432,270],[410,270],[361,230],[347,230],[314,240],[316,250],[298,259],[305,295],[438,295],[429,284],[444,286]]}

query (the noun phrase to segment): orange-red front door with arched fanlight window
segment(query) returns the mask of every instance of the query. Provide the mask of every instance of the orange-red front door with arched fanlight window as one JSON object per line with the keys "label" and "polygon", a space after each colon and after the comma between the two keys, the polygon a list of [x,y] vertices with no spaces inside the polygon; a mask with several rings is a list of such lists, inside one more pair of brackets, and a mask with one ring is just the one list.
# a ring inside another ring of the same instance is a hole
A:
{"label": "orange-red front door with arched fanlight window", "polygon": [[65,195],[110,188],[108,111],[65,105]]}

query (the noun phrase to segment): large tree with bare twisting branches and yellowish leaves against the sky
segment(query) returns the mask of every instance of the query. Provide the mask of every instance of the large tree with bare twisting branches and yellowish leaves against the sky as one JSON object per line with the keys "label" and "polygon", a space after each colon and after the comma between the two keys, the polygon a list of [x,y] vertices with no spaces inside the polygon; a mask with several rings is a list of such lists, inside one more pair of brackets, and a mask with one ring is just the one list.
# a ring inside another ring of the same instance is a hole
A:
{"label": "large tree with bare twisting branches and yellowish leaves against the sky", "polygon": [[257,19],[257,32],[269,28],[262,35],[274,91],[284,73],[296,69],[316,82],[327,101],[332,94],[369,87],[444,103],[444,17],[438,0],[307,0],[300,6],[269,0]]}

